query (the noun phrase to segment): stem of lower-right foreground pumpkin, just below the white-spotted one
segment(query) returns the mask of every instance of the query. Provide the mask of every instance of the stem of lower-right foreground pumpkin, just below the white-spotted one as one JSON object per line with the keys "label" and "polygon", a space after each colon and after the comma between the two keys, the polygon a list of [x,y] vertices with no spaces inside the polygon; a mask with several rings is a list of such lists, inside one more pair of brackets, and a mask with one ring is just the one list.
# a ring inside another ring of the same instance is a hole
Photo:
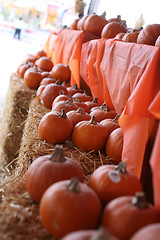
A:
{"label": "stem of lower-right foreground pumpkin, just below the white-spotted one", "polygon": [[141,209],[148,207],[148,201],[144,192],[137,192],[131,203]]}

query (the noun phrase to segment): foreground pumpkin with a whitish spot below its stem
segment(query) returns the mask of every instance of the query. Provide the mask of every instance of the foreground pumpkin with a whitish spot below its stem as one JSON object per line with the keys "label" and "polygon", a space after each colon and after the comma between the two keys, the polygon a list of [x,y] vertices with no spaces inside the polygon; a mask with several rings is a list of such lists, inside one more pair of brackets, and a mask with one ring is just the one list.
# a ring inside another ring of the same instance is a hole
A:
{"label": "foreground pumpkin with a whitish spot below its stem", "polygon": [[103,206],[114,198],[134,196],[142,191],[142,184],[135,174],[127,170],[126,163],[102,165],[90,175],[88,185],[97,193]]}

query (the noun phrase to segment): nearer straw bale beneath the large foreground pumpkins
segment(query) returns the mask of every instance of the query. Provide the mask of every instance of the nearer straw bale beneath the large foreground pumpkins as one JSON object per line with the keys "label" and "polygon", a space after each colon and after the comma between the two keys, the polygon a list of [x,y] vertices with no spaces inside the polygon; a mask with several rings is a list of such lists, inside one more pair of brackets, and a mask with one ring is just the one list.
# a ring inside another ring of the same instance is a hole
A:
{"label": "nearer straw bale beneath the large foreground pumpkins", "polygon": [[[38,134],[39,122],[48,111],[38,103],[36,98],[32,99],[25,121],[19,156],[16,159],[16,168],[0,188],[0,239],[2,240],[11,240],[15,236],[17,240],[54,239],[42,226],[39,205],[29,197],[25,188],[25,174],[31,162],[41,155],[50,154],[55,147],[40,139]],[[74,158],[81,165],[85,182],[94,169],[109,163],[102,154],[82,152],[71,141],[65,142],[63,146],[65,155]]]}

